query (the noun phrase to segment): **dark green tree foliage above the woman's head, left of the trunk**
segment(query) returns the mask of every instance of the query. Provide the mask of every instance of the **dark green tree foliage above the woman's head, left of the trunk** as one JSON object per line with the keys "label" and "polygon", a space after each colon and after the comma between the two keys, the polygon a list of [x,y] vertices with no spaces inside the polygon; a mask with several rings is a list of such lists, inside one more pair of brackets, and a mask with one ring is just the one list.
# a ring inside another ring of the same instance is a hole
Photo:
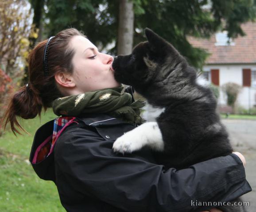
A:
{"label": "dark green tree foliage above the woman's head, left of the trunk", "polygon": [[[60,30],[75,27],[84,31],[100,50],[116,39],[118,10],[112,10],[113,5],[108,8],[107,0],[48,0],[46,5],[49,23],[45,28],[48,30],[48,37]],[[112,10],[111,13],[109,9]]]}

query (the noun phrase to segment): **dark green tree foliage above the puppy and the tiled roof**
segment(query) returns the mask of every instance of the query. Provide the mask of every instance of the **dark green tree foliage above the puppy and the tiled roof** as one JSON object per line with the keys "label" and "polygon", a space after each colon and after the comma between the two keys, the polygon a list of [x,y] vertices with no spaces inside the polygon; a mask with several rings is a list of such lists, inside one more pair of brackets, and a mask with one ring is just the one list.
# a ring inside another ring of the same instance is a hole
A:
{"label": "dark green tree foliage above the puppy and the tiled roof", "polygon": [[[209,38],[218,30],[227,30],[235,38],[244,35],[240,24],[254,20],[256,14],[253,0],[140,0],[140,8],[144,12],[136,16],[135,28],[151,28],[198,68],[208,54],[193,48],[188,36]],[[141,34],[135,43],[141,41]]]}

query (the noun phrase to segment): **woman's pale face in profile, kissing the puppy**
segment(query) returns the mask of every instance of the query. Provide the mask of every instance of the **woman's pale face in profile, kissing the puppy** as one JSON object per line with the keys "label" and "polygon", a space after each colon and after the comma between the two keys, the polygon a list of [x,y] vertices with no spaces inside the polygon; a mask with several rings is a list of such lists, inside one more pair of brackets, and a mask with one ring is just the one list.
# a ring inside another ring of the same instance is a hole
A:
{"label": "woman's pale face in profile, kissing the puppy", "polygon": [[110,68],[112,56],[98,52],[97,47],[82,36],[74,36],[70,45],[75,51],[72,76],[79,93],[120,86]]}

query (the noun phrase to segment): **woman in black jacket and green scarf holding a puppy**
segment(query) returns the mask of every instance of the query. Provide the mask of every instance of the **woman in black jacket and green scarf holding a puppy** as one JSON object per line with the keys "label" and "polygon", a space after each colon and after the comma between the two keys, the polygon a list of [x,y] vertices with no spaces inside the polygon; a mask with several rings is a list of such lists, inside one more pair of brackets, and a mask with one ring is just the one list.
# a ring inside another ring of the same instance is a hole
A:
{"label": "woman in black jacket and green scarf holding a puppy", "polygon": [[164,170],[146,149],[114,154],[116,138],[141,123],[143,104],[131,87],[122,92],[112,61],[78,30],[63,30],[31,51],[29,82],[5,114],[14,133],[22,129],[16,116],[34,118],[48,107],[61,115],[38,129],[30,161],[54,181],[67,211],[202,211],[211,207],[191,201],[231,201],[251,190],[239,153],[184,170]]}

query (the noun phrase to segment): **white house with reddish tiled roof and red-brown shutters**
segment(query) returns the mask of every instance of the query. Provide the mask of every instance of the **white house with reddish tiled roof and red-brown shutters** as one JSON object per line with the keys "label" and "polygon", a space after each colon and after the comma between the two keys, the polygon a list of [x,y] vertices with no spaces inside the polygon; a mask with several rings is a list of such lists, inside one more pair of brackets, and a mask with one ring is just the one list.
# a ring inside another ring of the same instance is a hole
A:
{"label": "white house with reddish tiled roof and red-brown shutters", "polygon": [[256,107],[256,23],[245,23],[241,27],[246,35],[233,40],[228,39],[226,31],[209,39],[188,40],[194,47],[211,54],[203,67],[203,75],[219,87],[219,105],[226,105],[221,86],[233,82],[242,87],[237,105],[248,110]]}

